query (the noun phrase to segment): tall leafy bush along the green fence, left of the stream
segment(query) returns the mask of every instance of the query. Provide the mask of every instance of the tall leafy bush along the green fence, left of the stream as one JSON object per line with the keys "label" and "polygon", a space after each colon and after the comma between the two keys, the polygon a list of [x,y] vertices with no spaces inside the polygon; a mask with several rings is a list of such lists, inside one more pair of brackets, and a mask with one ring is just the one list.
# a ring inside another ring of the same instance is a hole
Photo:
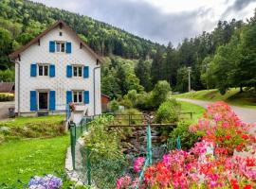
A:
{"label": "tall leafy bush along the green fence, left of the stream", "polygon": [[111,115],[93,120],[84,138],[85,147],[91,151],[89,157],[92,180],[99,188],[115,188],[117,178],[123,174],[127,166],[119,147],[119,132],[107,127],[113,120],[114,117]]}

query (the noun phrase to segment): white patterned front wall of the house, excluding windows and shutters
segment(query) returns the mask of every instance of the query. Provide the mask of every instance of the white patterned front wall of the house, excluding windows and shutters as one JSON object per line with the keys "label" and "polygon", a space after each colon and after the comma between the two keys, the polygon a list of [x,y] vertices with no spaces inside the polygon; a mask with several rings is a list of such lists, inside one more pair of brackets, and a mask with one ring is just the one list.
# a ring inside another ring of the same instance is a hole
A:
{"label": "white patterned front wall of the house, excluding windows and shutters", "polygon": [[[63,35],[60,36],[59,32]],[[71,54],[50,53],[49,41],[66,41],[72,43]],[[94,114],[94,86],[93,70],[97,60],[84,47],[80,48],[79,41],[68,33],[64,27],[57,26],[49,31],[41,40],[40,45],[34,43],[21,53],[20,62],[20,112],[30,112],[30,91],[51,90],[56,92],[56,111],[65,110],[66,91],[84,90],[89,91],[89,115]],[[55,77],[30,77],[31,63],[55,64]],[[89,66],[88,78],[66,77],[67,64],[81,64]],[[101,113],[101,69],[96,69],[96,114]],[[18,66],[15,66],[15,112],[18,112]]]}

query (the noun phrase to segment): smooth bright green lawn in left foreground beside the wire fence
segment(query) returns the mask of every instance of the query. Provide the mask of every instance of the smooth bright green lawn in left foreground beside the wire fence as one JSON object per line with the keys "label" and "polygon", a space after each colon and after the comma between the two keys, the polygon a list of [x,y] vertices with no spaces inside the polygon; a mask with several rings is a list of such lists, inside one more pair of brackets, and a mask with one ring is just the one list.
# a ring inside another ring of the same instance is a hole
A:
{"label": "smooth bright green lawn in left foreground beside the wire fence", "polygon": [[[50,139],[12,141],[0,145],[0,185],[26,182],[30,177],[64,173],[64,159],[69,135]],[[58,175],[56,175],[58,176]]]}

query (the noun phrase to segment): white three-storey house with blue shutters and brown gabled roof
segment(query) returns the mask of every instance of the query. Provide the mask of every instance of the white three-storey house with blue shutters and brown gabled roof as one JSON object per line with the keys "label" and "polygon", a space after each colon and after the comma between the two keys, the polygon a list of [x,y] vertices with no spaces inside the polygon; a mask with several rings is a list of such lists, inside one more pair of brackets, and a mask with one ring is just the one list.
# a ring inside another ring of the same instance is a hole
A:
{"label": "white three-storey house with blue shutters and brown gabled roof", "polygon": [[15,112],[61,113],[74,102],[101,113],[101,57],[63,21],[9,55],[15,62]]}

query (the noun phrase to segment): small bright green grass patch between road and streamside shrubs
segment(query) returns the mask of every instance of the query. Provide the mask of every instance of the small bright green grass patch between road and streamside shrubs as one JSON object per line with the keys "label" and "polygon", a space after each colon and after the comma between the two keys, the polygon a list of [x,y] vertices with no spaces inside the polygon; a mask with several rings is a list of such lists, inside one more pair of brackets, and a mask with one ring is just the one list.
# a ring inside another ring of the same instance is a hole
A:
{"label": "small bright green grass patch between road and streamside shrubs", "polygon": [[[193,112],[192,113],[192,122],[197,122],[198,118],[202,117],[205,109],[201,106],[189,103],[178,101],[181,104],[181,112]],[[185,116],[185,115],[183,115]],[[190,118],[190,114],[186,114],[186,118]]]}

